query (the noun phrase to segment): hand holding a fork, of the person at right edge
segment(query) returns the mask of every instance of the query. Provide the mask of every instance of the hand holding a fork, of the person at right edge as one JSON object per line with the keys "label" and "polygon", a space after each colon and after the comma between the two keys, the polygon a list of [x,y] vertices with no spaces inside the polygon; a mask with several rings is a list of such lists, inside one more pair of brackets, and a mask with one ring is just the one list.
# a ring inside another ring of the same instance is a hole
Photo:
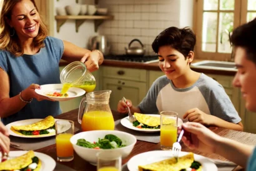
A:
{"label": "hand holding a fork, of the person at right edge", "polygon": [[[210,131],[207,127],[197,122],[186,122],[182,124],[184,135],[182,141],[185,146],[192,150],[199,150],[200,152],[215,153],[218,141],[222,137]],[[182,129],[179,127],[178,132]]]}

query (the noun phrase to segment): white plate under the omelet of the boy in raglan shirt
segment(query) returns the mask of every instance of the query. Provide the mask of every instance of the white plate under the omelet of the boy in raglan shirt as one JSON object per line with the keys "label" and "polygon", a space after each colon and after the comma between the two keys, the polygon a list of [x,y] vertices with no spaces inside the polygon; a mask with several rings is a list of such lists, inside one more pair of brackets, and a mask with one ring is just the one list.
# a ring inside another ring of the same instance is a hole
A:
{"label": "white plate under the omelet of the boy in raglan shirt", "polygon": [[[155,116],[155,117],[159,117],[160,118],[160,114],[146,114],[149,116]],[[181,126],[183,123],[182,119],[178,118],[178,126]],[[127,116],[126,118],[121,119],[121,124],[124,127],[127,127],[129,129],[133,129],[135,131],[140,131],[140,132],[159,132],[160,129],[148,129],[148,128],[137,128],[135,126],[132,125],[132,123],[129,121],[129,116]]]}

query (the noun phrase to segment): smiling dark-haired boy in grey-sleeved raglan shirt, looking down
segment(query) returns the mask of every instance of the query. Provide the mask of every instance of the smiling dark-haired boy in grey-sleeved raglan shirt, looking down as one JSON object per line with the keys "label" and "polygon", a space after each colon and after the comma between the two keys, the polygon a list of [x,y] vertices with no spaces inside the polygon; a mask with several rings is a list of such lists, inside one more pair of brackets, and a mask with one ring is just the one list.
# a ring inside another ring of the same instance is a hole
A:
{"label": "smiling dark-haired boy in grey-sleeved raglan shirt, looking down", "polygon": [[[184,121],[242,131],[241,119],[224,88],[190,69],[195,42],[195,34],[188,27],[169,27],[155,38],[152,49],[165,75],[154,81],[139,106],[128,100],[130,110],[144,114],[175,111]],[[127,113],[123,101],[119,101],[117,111]]]}

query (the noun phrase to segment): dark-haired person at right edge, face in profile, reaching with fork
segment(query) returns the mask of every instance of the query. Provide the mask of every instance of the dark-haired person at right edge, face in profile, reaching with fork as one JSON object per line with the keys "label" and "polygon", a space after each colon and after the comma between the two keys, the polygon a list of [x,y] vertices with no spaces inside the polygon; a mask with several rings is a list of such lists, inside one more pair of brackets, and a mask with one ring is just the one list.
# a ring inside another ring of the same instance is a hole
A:
{"label": "dark-haired person at right edge, face in profile, reaching with fork", "polygon": [[[234,30],[231,42],[235,47],[235,65],[238,68],[233,85],[241,89],[245,107],[256,112],[256,19]],[[215,153],[226,159],[256,170],[256,148],[220,137],[199,123],[187,122],[182,125],[187,134],[182,141],[190,149]],[[239,156],[239,157],[238,157]]]}

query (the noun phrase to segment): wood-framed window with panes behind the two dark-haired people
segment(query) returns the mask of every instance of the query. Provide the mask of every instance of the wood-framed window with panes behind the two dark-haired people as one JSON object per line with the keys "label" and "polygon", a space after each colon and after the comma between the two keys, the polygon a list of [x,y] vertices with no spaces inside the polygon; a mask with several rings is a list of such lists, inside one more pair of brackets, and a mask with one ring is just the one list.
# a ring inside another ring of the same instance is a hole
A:
{"label": "wood-framed window with panes behind the two dark-haired people", "polygon": [[232,30],[256,17],[256,0],[195,0],[195,55],[230,60]]}

